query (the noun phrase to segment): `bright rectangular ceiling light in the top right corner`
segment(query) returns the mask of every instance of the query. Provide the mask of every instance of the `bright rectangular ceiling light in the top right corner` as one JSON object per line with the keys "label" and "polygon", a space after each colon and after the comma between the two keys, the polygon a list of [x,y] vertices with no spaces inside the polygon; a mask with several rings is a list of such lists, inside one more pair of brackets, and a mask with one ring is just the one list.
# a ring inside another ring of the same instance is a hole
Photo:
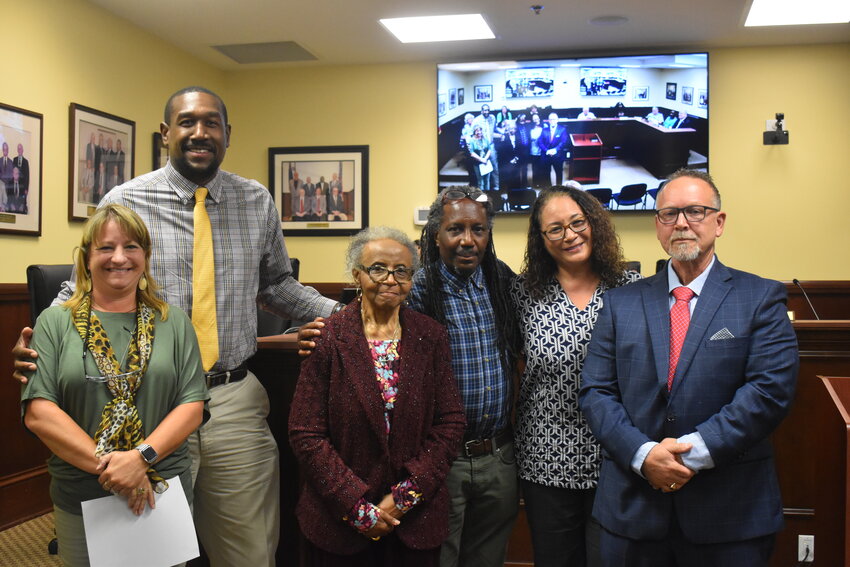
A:
{"label": "bright rectangular ceiling light in the top right corner", "polygon": [[797,26],[847,22],[850,22],[850,2],[847,0],[753,0],[744,25]]}

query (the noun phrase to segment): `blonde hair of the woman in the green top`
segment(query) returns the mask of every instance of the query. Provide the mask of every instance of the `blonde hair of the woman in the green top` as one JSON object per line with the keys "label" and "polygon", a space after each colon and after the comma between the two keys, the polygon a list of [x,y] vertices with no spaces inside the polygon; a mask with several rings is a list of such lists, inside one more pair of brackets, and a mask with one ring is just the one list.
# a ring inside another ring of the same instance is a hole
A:
{"label": "blonde hair of the woman in the green top", "polygon": [[151,259],[151,235],[148,232],[148,227],[145,222],[132,210],[123,205],[110,203],[97,209],[94,214],[89,217],[85,227],[83,227],[83,239],[80,245],[74,248],[74,267],[77,271],[76,288],[74,293],[68,298],[68,301],[62,305],[71,311],[76,310],[83,300],[83,297],[91,289],[91,274],[88,269],[88,258],[91,252],[92,245],[97,244],[97,238],[103,228],[110,221],[114,221],[130,239],[135,240],[145,251],[145,270],[142,277],[148,282],[145,289],[138,289],[139,301],[145,305],[159,311],[163,321],[168,318],[168,304],[159,298],[157,291],[159,285],[154,281],[150,273]]}

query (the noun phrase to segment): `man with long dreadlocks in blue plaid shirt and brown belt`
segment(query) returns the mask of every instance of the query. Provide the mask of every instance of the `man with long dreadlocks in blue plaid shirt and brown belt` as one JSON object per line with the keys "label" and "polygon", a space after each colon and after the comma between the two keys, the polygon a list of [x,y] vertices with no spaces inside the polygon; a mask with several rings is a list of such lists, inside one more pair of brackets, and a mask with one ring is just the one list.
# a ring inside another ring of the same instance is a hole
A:
{"label": "man with long dreadlocks in blue plaid shirt and brown belt", "polygon": [[514,273],[496,258],[495,212],[471,187],[440,192],[422,230],[411,307],[446,325],[466,433],[448,483],[449,537],[441,567],[502,566],[518,509],[511,405],[518,327]]}

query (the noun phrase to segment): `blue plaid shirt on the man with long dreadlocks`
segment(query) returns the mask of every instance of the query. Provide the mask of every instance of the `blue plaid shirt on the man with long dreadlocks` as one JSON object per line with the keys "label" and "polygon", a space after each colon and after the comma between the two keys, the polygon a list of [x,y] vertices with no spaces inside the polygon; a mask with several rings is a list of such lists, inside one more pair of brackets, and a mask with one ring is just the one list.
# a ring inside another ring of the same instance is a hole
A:
{"label": "blue plaid shirt on the man with long dreadlocks", "polygon": [[[452,349],[452,369],[466,413],[466,431],[477,438],[492,437],[510,421],[512,384],[506,372],[506,353],[499,351],[496,317],[479,266],[466,280],[439,262],[446,327]],[[425,270],[413,277],[408,302],[423,312]],[[504,360],[503,360],[504,359]]]}

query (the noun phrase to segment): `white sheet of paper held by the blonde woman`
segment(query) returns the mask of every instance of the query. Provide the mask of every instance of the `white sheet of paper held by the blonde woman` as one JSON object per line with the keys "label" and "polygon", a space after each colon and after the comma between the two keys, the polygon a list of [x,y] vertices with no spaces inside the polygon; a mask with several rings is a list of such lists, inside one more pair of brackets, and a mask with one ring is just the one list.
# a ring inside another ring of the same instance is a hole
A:
{"label": "white sheet of paper held by the blonde woman", "polygon": [[83,502],[91,567],[170,567],[198,557],[192,512],[178,477],[136,516],[120,496]]}

